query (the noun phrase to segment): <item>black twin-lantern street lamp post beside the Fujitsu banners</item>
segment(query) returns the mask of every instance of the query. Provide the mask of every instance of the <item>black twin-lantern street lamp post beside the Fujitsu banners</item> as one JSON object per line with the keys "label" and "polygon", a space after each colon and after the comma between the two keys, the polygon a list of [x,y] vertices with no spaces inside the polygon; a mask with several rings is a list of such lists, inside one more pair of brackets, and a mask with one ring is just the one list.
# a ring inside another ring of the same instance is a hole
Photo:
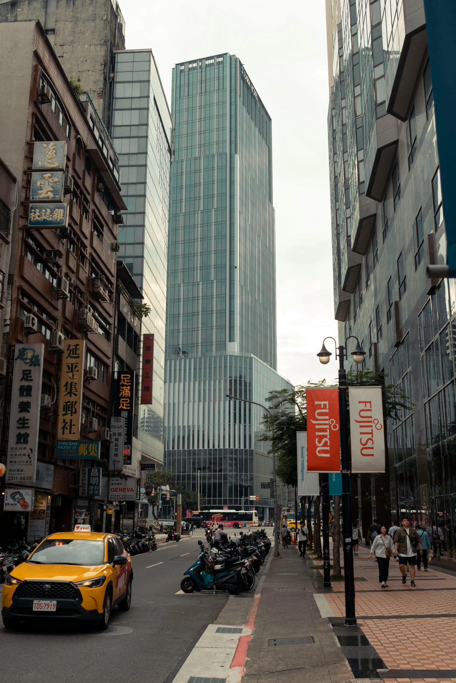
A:
{"label": "black twin-lantern street lamp post beside the Fujitsu banners", "polygon": [[350,458],[347,413],[347,374],[344,359],[347,356],[347,341],[356,339],[356,348],[351,352],[355,363],[362,363],[366,352],[362,350],[358,337],[350,335],[345,339],[345,346],[337,346],[334,337],[325,337],[321,351],[317,354],[320,363],[330,362],[332,353],[325,348],[326,339],[332,339],[336,347],[336,359],[339,360],[339,416],[340,416],[340,461],[342,464],[342,524],[344,548],[345,576],[345,626],[356,626],[355,611],[355,573],[353,569],[353,552],[351,548],[351,491],[350,491]]}

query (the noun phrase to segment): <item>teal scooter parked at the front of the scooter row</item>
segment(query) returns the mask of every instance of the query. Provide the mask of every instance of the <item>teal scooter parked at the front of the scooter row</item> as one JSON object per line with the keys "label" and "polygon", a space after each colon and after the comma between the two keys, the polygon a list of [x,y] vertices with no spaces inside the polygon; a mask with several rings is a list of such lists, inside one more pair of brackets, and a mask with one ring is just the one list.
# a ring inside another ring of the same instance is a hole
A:
{"label": "teal scooter parked at the front of the scooter row", "polygon": [[[184,579],[180,582],[180,589],[184,593],[194,593],[195,591],[210,591],[214,593],[217,589],[228,591],[232,595],[237,595],[243,589],[241,583],[241,567],[225,569],[218,574],[204,571],[204,566],[213,568],[213,561],[206,556],[206,550],[201,541],[198,541],[201,548],[200,555],[196,562],[184,572]],[[239,563],[239,558],[232,558],[232,562]]]}

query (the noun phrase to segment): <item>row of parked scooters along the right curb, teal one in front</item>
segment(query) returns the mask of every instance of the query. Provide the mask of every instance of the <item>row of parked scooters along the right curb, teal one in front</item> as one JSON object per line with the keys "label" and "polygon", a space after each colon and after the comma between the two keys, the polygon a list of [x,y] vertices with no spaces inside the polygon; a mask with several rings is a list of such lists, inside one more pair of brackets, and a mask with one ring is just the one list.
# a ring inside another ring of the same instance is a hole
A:
{"label": "row of parked scooters along the right curb, teal one in front", "polygon": [[234,538],[226,545],[213,542],[204,546],[199,540],[200,554],[184,574],[180,589],[184,593],[195,591],[226,591],[237,595],[250,591],[255,576],[271,549],[266,531],[254,531]]}

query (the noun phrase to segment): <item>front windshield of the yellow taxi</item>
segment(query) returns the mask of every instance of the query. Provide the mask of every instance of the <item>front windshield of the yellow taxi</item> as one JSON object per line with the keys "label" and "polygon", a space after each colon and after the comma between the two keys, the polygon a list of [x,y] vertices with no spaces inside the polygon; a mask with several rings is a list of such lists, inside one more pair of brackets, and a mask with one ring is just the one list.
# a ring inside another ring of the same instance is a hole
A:
{"label": "front windshield of the yellow taxi", "polygon": [[103,541],[75,538],[48,538],[35,550],[29,562],[35,564],[103,564]]}

